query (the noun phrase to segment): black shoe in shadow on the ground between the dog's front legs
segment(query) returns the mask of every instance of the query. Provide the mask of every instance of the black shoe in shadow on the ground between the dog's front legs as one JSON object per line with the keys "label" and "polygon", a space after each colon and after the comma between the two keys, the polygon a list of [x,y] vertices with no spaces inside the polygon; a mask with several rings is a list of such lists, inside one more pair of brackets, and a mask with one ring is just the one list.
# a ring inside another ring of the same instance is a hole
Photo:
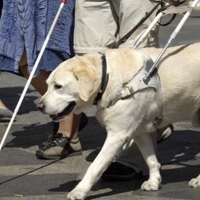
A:
{"label": "black shoe in shadow on the ground between the dog's front legs", "polygon": [[112,162],[108,169],[102,174],[104,181],[129,181],[134,179],[138,173],[131,167],[121,163]]}

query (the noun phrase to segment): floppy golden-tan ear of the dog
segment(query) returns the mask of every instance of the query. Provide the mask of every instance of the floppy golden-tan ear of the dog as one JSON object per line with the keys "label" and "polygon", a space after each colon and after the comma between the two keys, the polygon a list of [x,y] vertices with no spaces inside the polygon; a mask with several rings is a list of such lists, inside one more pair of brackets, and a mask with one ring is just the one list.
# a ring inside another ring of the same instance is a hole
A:
{"label": "floppy golden-tan ear of the dog", "polygon": [[99,85],[96,74],[90,69],[82,68],[74,70],[74,75],[79,83],[80,98],[87,102]]}

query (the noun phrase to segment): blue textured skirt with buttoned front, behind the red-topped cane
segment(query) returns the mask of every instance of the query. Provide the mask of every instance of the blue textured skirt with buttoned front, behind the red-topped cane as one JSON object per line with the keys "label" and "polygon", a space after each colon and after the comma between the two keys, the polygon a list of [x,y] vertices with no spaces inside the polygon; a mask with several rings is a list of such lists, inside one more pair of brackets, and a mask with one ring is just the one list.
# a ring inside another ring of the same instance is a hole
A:
{"label": "blue textured skirt with buttoned front, behind the red-topped cane", "polygon": [[[57,14],[60,0],[4,0],[0,20],[0,70],[18,73],[24,49],[31,72]],[[68,0],[41,58],[40,69],[53,71],[74,55],[74,4]]]}

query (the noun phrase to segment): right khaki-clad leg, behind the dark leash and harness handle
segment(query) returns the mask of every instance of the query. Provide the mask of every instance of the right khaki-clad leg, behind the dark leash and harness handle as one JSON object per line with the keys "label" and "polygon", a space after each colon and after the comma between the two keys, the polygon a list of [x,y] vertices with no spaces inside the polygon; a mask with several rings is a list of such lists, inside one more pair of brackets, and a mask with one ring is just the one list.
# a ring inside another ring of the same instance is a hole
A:
{"label": "right khaki-clad leg, behind the dark leash and harness handle", "polygon": [[[113,1],[117,2],[117,1]],[[116,12],[118,12],[119,16],[119,39],[126,35],[138,22],[145,17],[146,13],[151,11],[156,3],[153,3],[150,0],[126,0],[126,1],[119,1],[120,3],[115,4]],[[143,31],[145,31],[151,22],[154,20],[156,16],[155,11],[148,19],[146,19],[143,24],[137,28],[137,30],[125,41],[120,45],[120,47],[130,47],[132,48],[137,38],[141,35]],[[159,25],[155,25],[150,33],[148,34],[147,38],[142,42],[140,47],[145,46],[157,46],[158,47],[158,31]]]}

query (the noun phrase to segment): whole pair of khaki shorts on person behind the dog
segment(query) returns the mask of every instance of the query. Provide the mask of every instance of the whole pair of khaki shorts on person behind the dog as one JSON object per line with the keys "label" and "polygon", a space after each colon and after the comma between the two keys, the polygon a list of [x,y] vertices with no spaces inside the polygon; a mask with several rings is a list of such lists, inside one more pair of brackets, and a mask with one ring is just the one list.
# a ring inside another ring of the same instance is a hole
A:
{"label": "whole pair of khaki shorts on person behind the dog", "polygon": [[[74,51],[104,52],[113,48],[155,6],[150,0],[76,0]],[[120,47],[133,47],[155,17],[151,15]],[[141,46],[158,45],[158,26]]]}

